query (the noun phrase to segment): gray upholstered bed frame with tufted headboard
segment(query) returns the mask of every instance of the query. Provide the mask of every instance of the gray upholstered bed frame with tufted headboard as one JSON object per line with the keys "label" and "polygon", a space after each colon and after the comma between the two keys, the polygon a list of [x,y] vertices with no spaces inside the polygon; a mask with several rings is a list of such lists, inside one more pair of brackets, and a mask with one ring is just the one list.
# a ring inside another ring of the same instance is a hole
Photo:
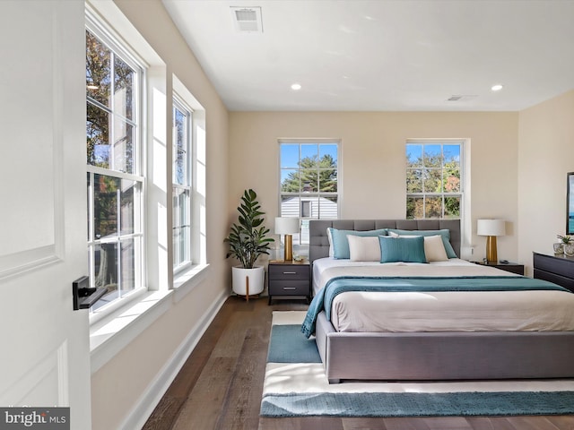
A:
{"label": "gray upholstered bed frame with tufted headboard", "polygon": [[[329,254],[329,227],[448,228],[450,243],[460,255],[458,220],[320,219],[309,221],[311,264]],[[574,377],[574,331],[338,332],[322,312],[316,339],[329,383]]]}

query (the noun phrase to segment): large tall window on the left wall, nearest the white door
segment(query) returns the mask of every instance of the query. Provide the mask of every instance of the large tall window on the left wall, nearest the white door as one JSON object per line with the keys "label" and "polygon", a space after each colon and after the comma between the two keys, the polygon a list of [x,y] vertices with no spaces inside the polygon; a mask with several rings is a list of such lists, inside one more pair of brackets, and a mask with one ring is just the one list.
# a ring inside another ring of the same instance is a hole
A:
{"label": "large tall window on the left wall, nearest the white door", "polygon": [[88,251],[100,307],[143,286],[142,68],[86,30]]}

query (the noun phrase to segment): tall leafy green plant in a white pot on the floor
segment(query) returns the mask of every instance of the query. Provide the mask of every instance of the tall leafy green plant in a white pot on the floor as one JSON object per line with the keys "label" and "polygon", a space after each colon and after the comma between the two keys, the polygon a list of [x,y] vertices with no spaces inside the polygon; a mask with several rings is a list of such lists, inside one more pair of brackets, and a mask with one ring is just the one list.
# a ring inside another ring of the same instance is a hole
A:
{"label": "tall leafy green plant in a white pot on the floor", "polygon": [[224,242],[230,245],[227,258],[234,257],[240,263],[231,269],[233,292],[239,296],[249,297],[263,291],[265,268],[256,266],[256,261],[259,256],[269,254],[269,247],[274,239],[266,237],[269,228],[265,228],[265,212],[261,211],[255,191],[245,190],[237,211],[239,211],[238,222],[231,225],[230,235]]}

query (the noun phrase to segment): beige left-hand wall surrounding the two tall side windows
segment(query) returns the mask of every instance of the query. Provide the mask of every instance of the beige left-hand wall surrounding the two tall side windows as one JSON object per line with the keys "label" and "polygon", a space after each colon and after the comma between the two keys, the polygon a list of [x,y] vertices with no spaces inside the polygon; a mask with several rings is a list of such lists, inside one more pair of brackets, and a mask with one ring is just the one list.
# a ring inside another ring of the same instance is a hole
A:
{"label": "beige left-hand wall surrounding the two tall side windows", "polygon": [[[222,295],[229,294],[228,262],[222,239],[227,235],[228,112],[213,85],[207,80],[160,0],[141,2],[116,0],[115,4],[148,41],[166,64],[168,77],[175,73],[205,108],[207,146],[206,236],[208,275],[186,297],[143,331],[91,378],[92,428],[119,428],[139,405],[143,393],[155,383],[163,367],[186,340],[204,313]],[[168,92],[170,95],[170,92]],[[168,97],[168,107],[170,97]],[[168,200],[170,202],[170,200]],[[160,283],[165,284],[166,280]],[[161,285],[160,285],[161,287]],[[165,286],[164,286],[165,288]]]}

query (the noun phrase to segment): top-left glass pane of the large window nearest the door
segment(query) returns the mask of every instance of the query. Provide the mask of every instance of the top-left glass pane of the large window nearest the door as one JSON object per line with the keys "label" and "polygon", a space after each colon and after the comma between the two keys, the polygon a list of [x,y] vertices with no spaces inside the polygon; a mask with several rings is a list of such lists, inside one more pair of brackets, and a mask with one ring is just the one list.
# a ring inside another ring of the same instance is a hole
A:
{"label": "top-left glass pane of the large window nearest the door", "polygon": [[86,31],[86,91],[88,97],[109,107],[111,53],[90,31]]}

